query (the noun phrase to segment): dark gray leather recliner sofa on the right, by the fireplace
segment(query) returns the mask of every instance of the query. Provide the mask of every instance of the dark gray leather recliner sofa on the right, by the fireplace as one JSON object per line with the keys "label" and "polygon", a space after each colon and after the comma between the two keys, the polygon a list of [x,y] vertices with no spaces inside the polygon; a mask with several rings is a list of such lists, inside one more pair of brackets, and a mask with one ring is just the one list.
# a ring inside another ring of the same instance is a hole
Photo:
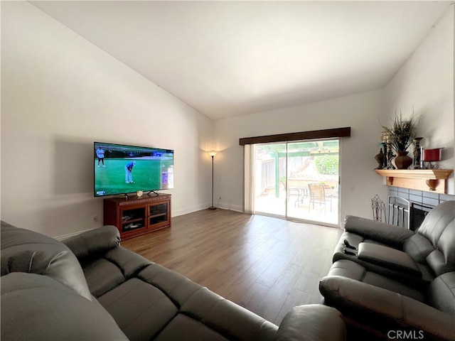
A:
{"label": "dark gray leather recliner sofa on the right, by the fireplace", "polygon": [[416,232],[347,216],[319,290],[348,339],[455,340],[455,201]]}

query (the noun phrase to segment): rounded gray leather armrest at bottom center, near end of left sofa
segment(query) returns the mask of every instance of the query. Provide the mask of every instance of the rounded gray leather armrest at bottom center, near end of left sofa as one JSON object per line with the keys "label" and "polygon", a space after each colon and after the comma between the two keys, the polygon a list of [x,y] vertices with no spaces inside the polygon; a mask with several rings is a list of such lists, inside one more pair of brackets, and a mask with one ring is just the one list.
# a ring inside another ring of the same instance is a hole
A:
{"label": "rounded gray leather armrest at bottom center, near end of left sofa", "polygon": [[346,326],[341,313],[334,308],[321,304],[300,305],[284,316],[275,340],[346,340]]}

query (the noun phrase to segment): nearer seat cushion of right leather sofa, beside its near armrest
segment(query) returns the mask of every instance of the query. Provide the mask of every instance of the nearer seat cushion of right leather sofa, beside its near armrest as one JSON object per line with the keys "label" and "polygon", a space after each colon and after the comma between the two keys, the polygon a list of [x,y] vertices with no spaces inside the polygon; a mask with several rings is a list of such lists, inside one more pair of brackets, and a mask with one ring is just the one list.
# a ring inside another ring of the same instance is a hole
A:
{"label": "nearer seat cushion of right leather sofa, beside its near armrest", "polygon": [[395,293],[400,293],[420,302],[426,300],[426,291],[419,291],[417,288],[407,286],[400,281],[395,281],[392,278],[387,278],[386,276],[376,274],[373,271],[368,271],[364,266],[353,261],[348,261],[347,259],[341,259],[333,263],[327,276],[343,276],[354,279],[355,281],[370,284],[371,286],[377,286]]}

